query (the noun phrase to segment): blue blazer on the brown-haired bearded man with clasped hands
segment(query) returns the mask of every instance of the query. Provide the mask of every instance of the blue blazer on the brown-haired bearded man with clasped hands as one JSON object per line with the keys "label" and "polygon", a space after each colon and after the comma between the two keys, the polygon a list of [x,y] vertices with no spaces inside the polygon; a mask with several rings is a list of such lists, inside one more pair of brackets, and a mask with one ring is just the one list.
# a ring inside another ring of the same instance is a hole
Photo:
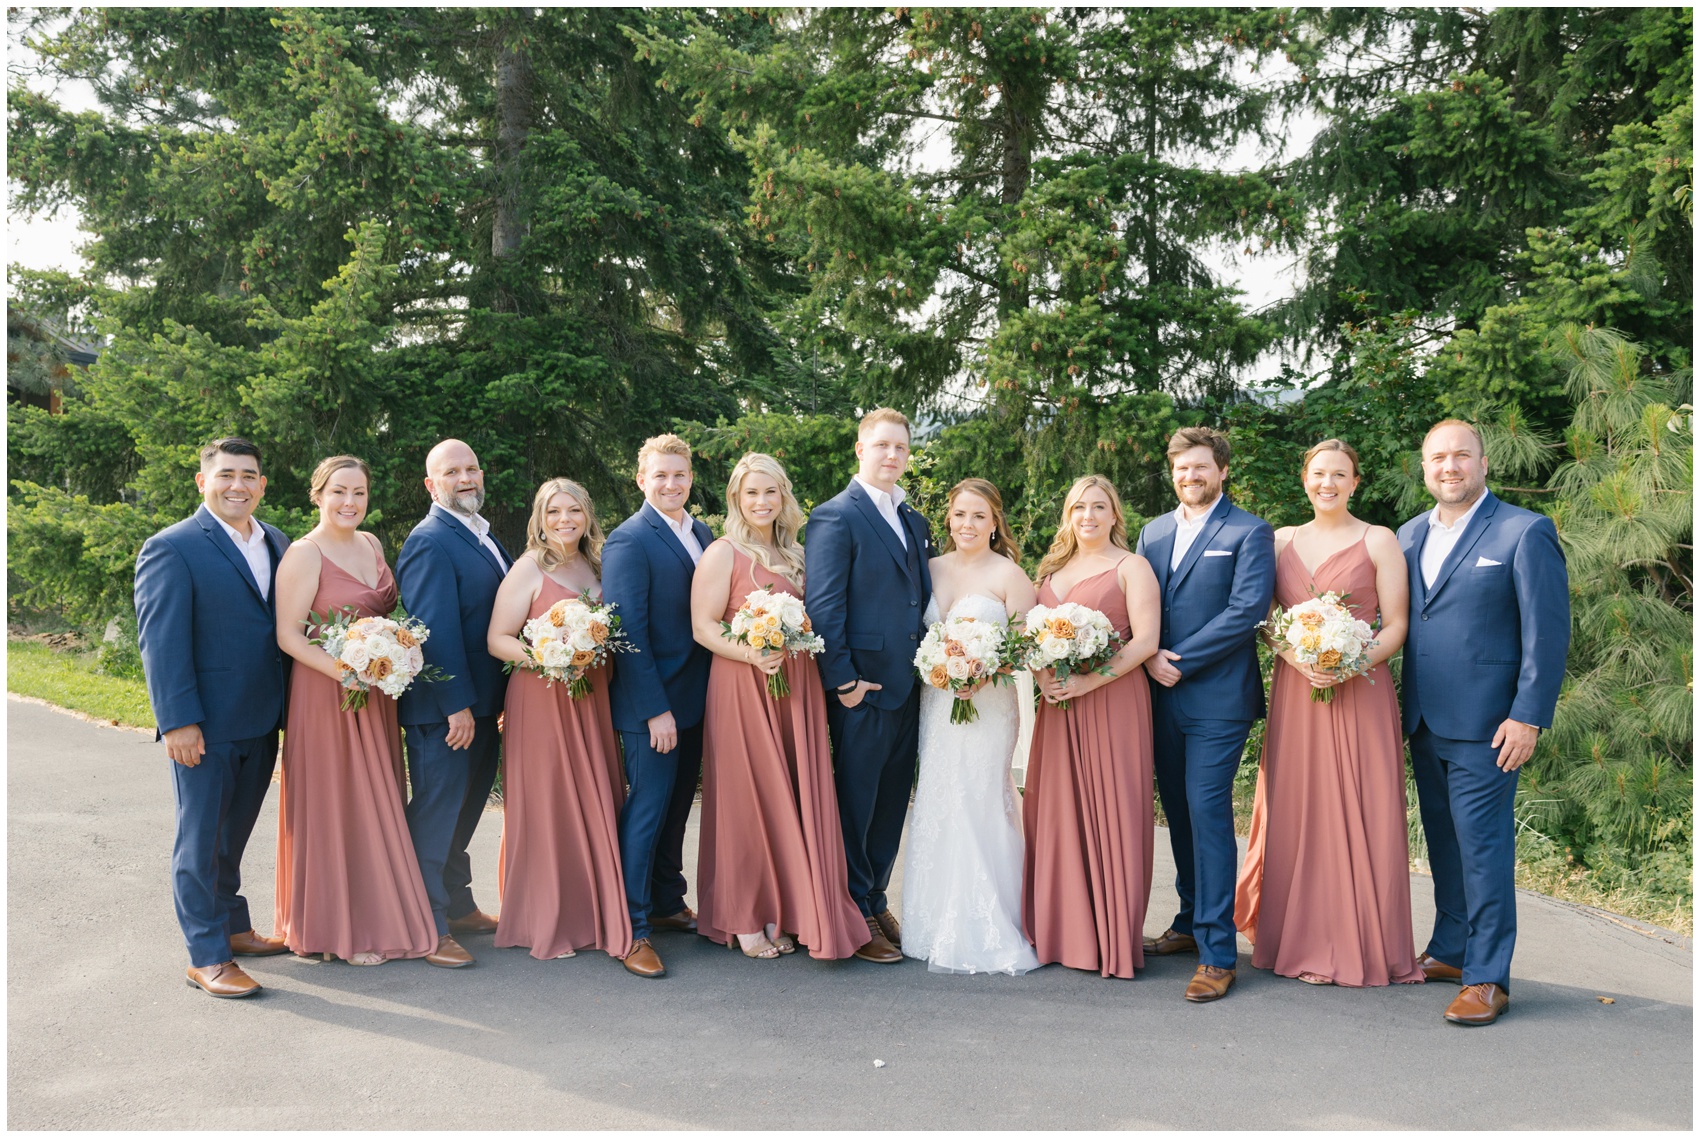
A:
{"label": "blue blazer on the brown-haired bearded man with clasped hands", "polygon": [[1275,531],[1224,493],[1171,573],[1173,551],[1173,512],[1139,531],[1136,553],[1163,590],[1158,646],[1180,655],[1180,682],[1153,684],[1151,696],[1190,720],[1261,720],[1258,624],[1275,599]]}

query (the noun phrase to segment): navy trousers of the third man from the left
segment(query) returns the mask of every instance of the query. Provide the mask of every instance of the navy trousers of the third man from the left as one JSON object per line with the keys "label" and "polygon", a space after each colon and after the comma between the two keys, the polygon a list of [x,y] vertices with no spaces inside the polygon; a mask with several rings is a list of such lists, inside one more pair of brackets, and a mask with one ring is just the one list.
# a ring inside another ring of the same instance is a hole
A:
{"label": "navy trousers of the third man from the left", "polygon": [[626,752],[626,805],[620,806],[620,869],[632,941],[649,936],[651,917],[685,908],[685,823],[702,774],[702,725],[680,728],[665,755],[649,731],[620,731]]}

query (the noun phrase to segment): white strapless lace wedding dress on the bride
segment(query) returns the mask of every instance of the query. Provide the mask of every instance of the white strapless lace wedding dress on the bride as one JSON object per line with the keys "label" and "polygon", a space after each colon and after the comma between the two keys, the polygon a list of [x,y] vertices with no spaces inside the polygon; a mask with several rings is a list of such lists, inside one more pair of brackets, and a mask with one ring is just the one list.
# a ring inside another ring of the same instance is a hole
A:
{"label": "white strapless lace wedding dress on the bride", "polygon": [[[1006,623],[1003,602],[981,594],[950,616]],[[926,623],[938,621],[928,602]],[[955,697],[921,687],[920,782],[903,864],[903,954],[928,971],[1039,968],[1022,934],[1022,811],[1010,777],[1020,709],[1015,687],[988,684],[979,718],[950,723]]]}

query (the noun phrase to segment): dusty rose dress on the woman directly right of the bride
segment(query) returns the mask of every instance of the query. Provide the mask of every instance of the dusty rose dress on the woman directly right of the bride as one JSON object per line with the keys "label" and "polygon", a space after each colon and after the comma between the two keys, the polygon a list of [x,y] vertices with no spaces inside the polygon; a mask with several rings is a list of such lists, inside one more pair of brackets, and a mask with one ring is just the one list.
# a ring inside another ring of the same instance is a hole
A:
{"label": "dusty rose dress on the woman directly right of the bride", "polygon": [[[1039,604],[1083,604],[1130,634],[1115,570],[1062,599],[1051,578]],[[1132,980],[1144,968],[1151,900],[1151,687],[1144,669],[1069,701],[1039,704],[1022,801],[1027,861],[1022,924],[1046,964]]]}

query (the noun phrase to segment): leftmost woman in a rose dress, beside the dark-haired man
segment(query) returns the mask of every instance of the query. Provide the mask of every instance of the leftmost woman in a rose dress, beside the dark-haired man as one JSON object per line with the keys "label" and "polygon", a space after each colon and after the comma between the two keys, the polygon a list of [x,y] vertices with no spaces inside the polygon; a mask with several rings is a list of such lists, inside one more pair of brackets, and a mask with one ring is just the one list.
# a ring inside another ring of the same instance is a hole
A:
{"label": "leftmost woman in a rose dress, beside the dark-haired man", "polygon": [[374,687],[364,708],[342,711],[338,665],[306,636],[309,611],[389,616],[396,607],[382,546],[360,532],[371,478],[352,454],[320,463],[309,495],[320,524],[277,566],[277,645],[296,658],[277,806],[277,930],[299,956],[350,964],[423,956],[456,966],[456,954],[439,959],[401,808],[396,703]]}

